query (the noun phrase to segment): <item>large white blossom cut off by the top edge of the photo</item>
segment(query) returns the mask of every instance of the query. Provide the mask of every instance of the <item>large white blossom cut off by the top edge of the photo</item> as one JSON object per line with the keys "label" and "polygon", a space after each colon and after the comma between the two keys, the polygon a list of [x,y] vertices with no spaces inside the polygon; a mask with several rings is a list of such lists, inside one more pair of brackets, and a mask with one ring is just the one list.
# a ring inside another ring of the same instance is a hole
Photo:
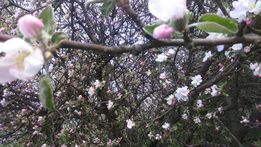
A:
{"label": "large white blossom cut off by the top edge of the photo", "polygon": [[149,0],[148,6],[152,15],[167,22],[185,15],[186,2],[187,0]]}

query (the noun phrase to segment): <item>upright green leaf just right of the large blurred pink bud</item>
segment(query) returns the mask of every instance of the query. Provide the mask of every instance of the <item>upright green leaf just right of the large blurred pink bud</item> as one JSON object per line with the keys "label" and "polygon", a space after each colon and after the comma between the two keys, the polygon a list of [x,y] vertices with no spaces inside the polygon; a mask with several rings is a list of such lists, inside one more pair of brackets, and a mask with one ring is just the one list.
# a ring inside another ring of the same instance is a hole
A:
{"label": "upright green leaf just right of the large blurred pink bud", "polygon": [[44,30],[51,35],[56,29],[56,22],[54,19],[54,11],[51,5],[44,8],[44,10],[38,16],[43,20]]}

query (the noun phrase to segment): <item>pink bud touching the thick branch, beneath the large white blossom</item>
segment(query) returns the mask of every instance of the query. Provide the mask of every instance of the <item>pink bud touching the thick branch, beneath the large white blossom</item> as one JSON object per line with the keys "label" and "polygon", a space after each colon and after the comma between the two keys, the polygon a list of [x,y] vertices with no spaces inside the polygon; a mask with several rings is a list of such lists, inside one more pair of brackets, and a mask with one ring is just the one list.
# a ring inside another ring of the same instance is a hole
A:
{"label": "pink bud touching the thick branch, beneath the large white blossom", "polygon": [[173,28],[169,27],[166,24],[157,26],[154,30],[153,30],[153,35],[152,37],[155,39],[166,39],[166,38],[170,38],[171,34],[173,32]]}

